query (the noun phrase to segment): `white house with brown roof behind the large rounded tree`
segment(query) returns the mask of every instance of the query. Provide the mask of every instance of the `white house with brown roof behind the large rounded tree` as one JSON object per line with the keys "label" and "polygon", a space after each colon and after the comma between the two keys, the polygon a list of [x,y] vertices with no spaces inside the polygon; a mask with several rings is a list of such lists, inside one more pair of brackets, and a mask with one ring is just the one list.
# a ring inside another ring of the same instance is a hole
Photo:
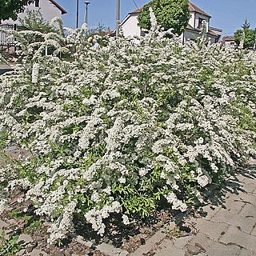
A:
{"label": "white house with brown roof behind the large rounded tree", "polygon": [[[221,37],[222,30],[210,26],[211,16],[209,14],[206,14],[205,11],[201,10],[191,2],[189,3],[189,8],[190,20],[188,25],[186,26],[185,32],[181,35],[182,42],[195,40],[196,38],[198,38],[200,32],[202,31],[203,21],[206,22],[206,35],[209,38],[210,42],[218,42],[219,38]],[[125,37],[142,35],[142,30],[138,25],[138,15],[142,12],[142,9],[143,7],[130,12],[122,21],[121,27]]]}

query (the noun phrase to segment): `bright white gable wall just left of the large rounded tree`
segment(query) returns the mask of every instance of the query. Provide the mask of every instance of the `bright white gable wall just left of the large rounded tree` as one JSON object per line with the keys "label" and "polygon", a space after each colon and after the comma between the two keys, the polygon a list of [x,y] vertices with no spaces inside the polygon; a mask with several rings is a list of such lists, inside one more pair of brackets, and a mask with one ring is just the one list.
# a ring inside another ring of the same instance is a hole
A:
{"label": "bright white gable wall just left of the large rounded tree", "polygon": [[141,35],[141,28],[138,26],[138,14],[130,14],[126,22],[122,24],[122,33],[125,37]]}

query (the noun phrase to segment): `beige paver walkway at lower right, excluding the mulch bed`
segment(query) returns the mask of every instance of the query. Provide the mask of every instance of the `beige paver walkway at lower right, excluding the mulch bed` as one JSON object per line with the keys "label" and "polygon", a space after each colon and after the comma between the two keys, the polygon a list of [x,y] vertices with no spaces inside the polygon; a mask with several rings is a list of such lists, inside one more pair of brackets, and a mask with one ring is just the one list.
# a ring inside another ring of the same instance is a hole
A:
{"label": "beige paver walkway at lower right, excluding the mulch bed", "polygon": [[202,218],[186,220],[185,225],[194,226],[197,234],[164,239],[151,245],[155,250],[149,255],[256,256],[256,171],[238,174],[229,184],[222,205],[203,206]]}

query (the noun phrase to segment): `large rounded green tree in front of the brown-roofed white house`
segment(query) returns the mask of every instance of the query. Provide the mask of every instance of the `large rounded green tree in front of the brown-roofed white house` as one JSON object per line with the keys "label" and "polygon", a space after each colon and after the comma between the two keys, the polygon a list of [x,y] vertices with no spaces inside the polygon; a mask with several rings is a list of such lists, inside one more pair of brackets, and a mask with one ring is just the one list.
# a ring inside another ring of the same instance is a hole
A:
{"label": "large rounded green tree in front of the brown-roofed white house", "polygon": [[139,25],[150,30],[150,7],[154,10],[158,25],[164,30],[173,28],[174,34],[182,34],[190,19],[188,0],[153,0],[143,6],[138,16]]}

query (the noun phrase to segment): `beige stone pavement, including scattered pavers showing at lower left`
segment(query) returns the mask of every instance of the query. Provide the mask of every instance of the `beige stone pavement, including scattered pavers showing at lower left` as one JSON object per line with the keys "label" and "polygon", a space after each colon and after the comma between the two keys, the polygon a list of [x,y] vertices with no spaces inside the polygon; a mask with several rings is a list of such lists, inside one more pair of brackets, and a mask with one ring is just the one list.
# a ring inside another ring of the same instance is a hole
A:
{"label": "beige stone pavement, including scattered pavers showing at lower left", "polygon": [[[209,203],[202,207],[198,215],[186,218],[180,214],[176,223],[158,230],[134,253],[128,254],[126,250],[105,243],[96,249],[109,256],[256,256],[256,161],[250,162],[249,170],[228,178],[222,190],[225,191],[222,196],[212,196],[212,191],[208,191]],[[182,223],[190,231],[175,232],[177,223]],[[6,225],[0,220],[0,232]],[[23,235],[20,239],[29,243],[31,238]],[[92,244],[84,242],[81,237],[78,237],[78,242],[89,247]],[[19,255],[48,254],[33,250]]]}

